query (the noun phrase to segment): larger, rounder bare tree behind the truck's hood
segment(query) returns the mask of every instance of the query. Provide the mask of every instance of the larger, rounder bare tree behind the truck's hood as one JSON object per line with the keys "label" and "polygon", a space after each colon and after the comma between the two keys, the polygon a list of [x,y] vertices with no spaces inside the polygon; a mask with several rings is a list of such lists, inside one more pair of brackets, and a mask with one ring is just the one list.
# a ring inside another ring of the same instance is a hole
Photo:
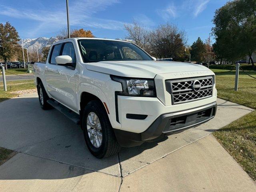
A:
{"label": "larger, rounder bare tree behind the truck's hood", "polygon": [[158,58],[184,57],[186,43],[186,32],[174,24],[161,24],[150,33],[151,52]]}

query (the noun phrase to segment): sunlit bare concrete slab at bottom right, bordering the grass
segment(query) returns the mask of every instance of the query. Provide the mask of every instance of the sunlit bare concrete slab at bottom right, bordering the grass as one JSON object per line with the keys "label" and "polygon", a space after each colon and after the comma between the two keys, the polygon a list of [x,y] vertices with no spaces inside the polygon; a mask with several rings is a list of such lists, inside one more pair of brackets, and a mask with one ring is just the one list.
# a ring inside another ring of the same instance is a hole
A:
{"label": "sunlit bare concrete slab at bottom right, bordering the grass", "polygon": [[212,136],[123,178],[122,192],[255,192],[256,184]]}

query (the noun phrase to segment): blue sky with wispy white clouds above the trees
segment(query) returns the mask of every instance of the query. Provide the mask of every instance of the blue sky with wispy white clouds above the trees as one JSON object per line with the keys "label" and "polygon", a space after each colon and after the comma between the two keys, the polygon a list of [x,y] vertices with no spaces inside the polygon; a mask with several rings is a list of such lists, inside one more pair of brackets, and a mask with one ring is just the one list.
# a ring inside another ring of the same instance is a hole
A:
{"label": "blue sky with wispy white clouds above the trees", "polygon": [[[66,27],[66,0],[0,0],[0,22],[9,21],[20,38],[56,36]],[[188,45],[205,40],[217,8],[227,0],[69,0],[70,27],[99,38],[125,38],[124,23],[140,20],[154,28],[171,22],[186,31]]]}

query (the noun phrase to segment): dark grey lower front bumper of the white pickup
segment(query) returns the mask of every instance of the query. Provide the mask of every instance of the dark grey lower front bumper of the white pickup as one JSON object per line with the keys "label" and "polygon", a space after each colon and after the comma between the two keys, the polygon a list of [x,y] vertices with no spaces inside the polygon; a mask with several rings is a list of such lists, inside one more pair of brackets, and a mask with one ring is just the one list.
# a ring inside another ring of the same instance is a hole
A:
{"label": "dark grey lower front bumper of the white pickup", "polygon": [[114,129],[116,138],[120,146],[138,146],[145,141],[156,140],[164,134],[175,134],[188,128],[196,127],[214,118],[217,104],[210,104],[192,108],[189,110],[166,113],[158,116],[156,120],[141,133],[129,132]]}

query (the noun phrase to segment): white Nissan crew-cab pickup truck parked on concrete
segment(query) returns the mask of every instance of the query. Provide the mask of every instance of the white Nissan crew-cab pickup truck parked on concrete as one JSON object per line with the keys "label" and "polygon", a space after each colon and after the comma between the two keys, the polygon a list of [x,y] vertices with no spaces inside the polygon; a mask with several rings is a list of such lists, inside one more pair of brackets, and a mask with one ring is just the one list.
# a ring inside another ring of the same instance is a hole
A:
{"label": "white Nissan crew-cab pickup truck parked on concrete", "polygon": [[42,109],[81,124],[97,158],[182,132],[216,114],[215,75],[191,63],[156,61],[131,42],[69,38],[34,64]]}

